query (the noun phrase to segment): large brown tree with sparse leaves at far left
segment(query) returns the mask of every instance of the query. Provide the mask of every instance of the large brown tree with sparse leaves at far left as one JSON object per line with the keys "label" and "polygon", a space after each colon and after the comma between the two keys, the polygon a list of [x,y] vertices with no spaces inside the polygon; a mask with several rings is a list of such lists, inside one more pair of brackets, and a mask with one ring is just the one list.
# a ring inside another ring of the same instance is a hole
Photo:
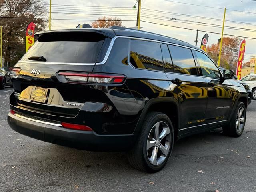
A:
{"label": "large brown tree with sparse leaves at far left", "polygon": [[36,24],[36,31],[44,30],[48,12],[43,0],[0,0],[0,24],[4,66],[13,66],[25,53],[25,33],[28,23]]}

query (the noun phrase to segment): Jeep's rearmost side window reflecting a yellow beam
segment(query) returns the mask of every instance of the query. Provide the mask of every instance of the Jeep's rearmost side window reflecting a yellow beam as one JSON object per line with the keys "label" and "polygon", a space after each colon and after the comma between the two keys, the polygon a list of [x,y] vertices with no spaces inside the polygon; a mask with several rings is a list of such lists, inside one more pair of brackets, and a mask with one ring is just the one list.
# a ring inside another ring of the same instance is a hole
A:
{"label": "Jeep's rearmost side window reflecting a yellow beam", "polygon": [[136,68],[163,71],[160,43],[130,40],[130,62]]}

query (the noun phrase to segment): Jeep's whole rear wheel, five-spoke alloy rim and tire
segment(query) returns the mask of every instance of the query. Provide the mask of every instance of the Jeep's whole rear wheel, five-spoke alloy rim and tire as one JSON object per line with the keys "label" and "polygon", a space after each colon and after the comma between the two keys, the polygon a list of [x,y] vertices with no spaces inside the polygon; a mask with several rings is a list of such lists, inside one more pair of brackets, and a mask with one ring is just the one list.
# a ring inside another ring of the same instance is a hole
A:
{"label": "Jeep's whole rear wheel, five-spoke alloy rim and tire", "polygon": [[170,158],[174,130],[170,118],[160,112],[146,115],[138,140],[128,152],[130,164],[142,171],[158,172]]}

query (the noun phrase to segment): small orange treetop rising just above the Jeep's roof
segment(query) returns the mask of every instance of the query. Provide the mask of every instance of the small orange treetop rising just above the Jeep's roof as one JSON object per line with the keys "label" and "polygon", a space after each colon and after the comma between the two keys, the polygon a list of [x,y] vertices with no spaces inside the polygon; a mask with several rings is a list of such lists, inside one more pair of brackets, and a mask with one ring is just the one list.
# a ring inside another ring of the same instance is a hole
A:
{"label": "small orange treetop rising just above the Jeep's roof", "polygon": [[117,25],[117,26],[122,26],[122,21],[120,18],[117,17],[102,17],[98,18],[98,20],[92,22],[92,27],[94,28],[108,28],[110,26]]}

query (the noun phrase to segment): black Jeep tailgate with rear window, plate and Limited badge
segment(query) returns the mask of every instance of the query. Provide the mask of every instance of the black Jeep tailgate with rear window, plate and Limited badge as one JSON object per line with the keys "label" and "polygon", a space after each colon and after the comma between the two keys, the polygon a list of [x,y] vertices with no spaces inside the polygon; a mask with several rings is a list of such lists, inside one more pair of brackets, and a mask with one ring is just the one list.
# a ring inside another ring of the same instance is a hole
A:
{"label": "black Jeep tailgate with rear window, plate and Limited badge", "polygon": [[[66,83],[59,72],[92,72],[102,62],[111,39],[96,32],[40,34],[38,41],[16,64],[13,77],[16,103],[44,114],[74,117],[97,90],[85,84]],[[42,59],[43,58],[43,59]]]}

